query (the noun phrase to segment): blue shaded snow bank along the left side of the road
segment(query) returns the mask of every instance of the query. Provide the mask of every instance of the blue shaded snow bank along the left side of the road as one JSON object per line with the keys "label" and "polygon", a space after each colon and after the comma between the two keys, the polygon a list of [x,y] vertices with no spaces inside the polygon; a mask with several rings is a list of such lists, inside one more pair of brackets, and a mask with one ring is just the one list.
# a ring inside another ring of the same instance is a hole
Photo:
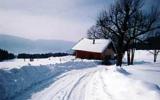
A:
{"label": "blue shaded snow bank along the left side of the road", "polygon": [[13,68],[11,70],[0,69],[0,100],[14,98],[27,88],[66,71],[95,65],[92,61],[77,60],[47,66],[24,66],[20,69]]}

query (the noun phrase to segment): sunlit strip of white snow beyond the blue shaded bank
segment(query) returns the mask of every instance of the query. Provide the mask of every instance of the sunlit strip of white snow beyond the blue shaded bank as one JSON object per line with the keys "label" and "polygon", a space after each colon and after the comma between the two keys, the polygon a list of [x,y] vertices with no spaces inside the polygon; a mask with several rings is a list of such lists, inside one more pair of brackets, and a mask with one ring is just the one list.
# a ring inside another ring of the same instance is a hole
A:
{"label": "sunlit strip of white snow beyond the blue shaded bank", "polygon": [[40,66],[40,65],[51,65],[56,63],[65,63],[68,61],[74,60],[74,56],[64,56],[64,57],[49,57],[49,58],[41,58],[34,59],[34,61],[30,61],[30,59],[13,59],[6,60],[0,62],[0,69],[10,70],[12,68],[20,69],[23,66]]}

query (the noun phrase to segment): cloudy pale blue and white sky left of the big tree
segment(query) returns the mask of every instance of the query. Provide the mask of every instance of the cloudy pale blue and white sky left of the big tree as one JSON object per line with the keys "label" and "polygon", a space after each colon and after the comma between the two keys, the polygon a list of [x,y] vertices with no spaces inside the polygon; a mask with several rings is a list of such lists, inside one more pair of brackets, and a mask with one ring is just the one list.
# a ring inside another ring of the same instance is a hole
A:
{"label": "cloudy pale blue and white sky left of the big tree", "polygon": [[0,34],[78,41],[86,37],[98,14],[113,1],[0,0]]}

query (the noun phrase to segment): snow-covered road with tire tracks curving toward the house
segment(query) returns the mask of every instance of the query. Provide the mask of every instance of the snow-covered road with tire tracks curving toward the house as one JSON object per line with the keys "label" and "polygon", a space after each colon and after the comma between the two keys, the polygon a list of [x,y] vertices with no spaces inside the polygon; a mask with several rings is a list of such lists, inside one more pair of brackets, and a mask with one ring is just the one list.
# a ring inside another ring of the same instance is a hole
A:
{"label": "snow-covered road with tire tracks curving toward the house", "polygon": [[85,100],[85,89],[97,68],[74,70],[63,75],[31,100]]}

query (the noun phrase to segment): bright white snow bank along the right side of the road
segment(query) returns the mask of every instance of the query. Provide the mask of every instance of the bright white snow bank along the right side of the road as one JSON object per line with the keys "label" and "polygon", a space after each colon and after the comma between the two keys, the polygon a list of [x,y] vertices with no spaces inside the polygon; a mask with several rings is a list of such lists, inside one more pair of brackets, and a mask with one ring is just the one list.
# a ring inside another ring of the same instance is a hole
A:
{"label": "bright white snow bank along the right side of the road", "polygon": [[129,78],[124,69],[97,71],[89,81],[84,100],[159,100],[158,86]]}

